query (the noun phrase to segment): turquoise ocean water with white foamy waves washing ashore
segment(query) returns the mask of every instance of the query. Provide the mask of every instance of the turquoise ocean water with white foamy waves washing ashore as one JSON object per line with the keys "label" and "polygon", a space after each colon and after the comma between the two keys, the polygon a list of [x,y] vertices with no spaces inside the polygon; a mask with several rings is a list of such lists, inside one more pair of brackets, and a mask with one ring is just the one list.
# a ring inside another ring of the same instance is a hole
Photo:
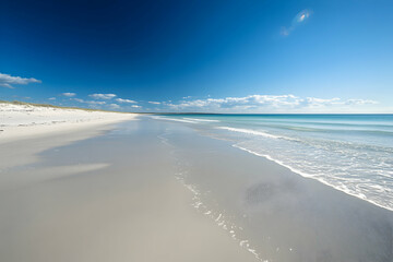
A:
{"label": "turquoise ocean water with white foamy waves washing ashore", "polygon": [[393,211],[393,115],[160,115]]}

